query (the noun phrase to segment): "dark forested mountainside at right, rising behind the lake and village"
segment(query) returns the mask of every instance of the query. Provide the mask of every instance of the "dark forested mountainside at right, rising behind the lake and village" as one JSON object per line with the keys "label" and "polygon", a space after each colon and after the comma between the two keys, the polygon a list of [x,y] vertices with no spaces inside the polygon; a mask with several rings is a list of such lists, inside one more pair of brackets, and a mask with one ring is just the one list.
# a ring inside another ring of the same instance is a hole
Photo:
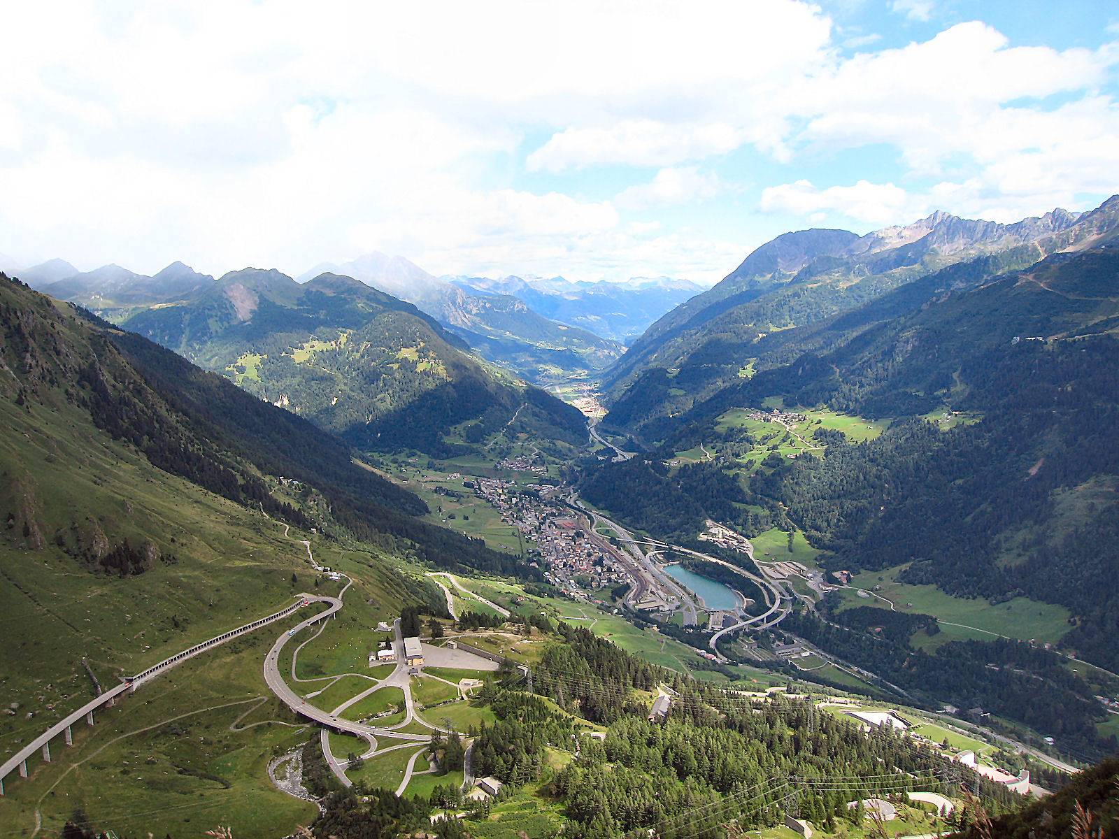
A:
{"label": "dark forested mountainside at right, rising behind the lake and village", "polygon": [[[866,443],[820,437],[825,456],[705,469],[749,472],[739,500],[788,517],[836,567],[904,564],[904,582],[1060,603],[1074,615],[1069,648],[1115,669],[1119,248],[1107,235],[1092,242],[986,282],[977,264],[949,268],[791,331],[774,353],[781,364],[643,430],[664,441],[662,458],[697,440],[728,441],[739,433],[716,431],[717,417],[768,398],[893,417]],[[965,422],[925,418],[946,412]],[[592,480],[620,469],[640,466]]]}

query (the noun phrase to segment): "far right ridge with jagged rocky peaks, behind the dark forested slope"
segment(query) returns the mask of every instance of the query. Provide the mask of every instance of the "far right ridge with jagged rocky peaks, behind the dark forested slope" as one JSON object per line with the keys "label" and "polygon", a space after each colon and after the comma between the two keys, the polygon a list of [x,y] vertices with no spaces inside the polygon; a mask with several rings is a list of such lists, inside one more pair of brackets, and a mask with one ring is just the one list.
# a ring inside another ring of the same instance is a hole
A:
{"label": "far right ridge with jagged rocky peaks, behind the dark forested slope", "polygon": [[[679,413],[746,375],[756,345],[774,333],[824,321],[980,256],[1005,257],[1008,267],[1031,264],[1089,237],[1091,225],[1078,228],[1078,220],[1064,210],[1014,225],[935,213],[863,237],[843,230],[786,234],[653,324],[608,371],[610,397],[622,403],[667,376],[673,384],[660,388],[659,407],[639,420]],[[627,418],[618,414],[610,422]]]}

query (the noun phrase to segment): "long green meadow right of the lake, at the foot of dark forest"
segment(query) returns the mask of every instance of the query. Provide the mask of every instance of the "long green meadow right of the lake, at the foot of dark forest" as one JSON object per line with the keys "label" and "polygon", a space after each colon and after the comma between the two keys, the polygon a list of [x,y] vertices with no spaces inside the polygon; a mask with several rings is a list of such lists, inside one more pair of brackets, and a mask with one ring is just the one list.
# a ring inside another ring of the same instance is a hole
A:
{"label": "long green meadow right of the lake, at the foot of dark forest", "polygon": [[[904,566],[887,568],[881,572],[862,572],[856,574],[850,585],[872,590],[881,586],[875,594],[893,602],[899,612],[920,612],[934,615],[940,621],[960,623],[974,626],[976,630],[960,630],[941,623],[941,632],[929,637],[919,633],[913,643],[928,648],[959,638],[976,638],[991,640],[998,633],[1008,638],[1022,640],[1054,642],[1061,639],[1071,626],[1069,611],[1064,606],[1050,603],[1038,603],[1026,597],[1015,597],[1005,603],[991,604],[982,597],[966,600],[953,597],[933,585],[909,585],[899,583],[897,574]],[[859,597],[853,588],[840,590],[843,607],[878,605],[888,609],[882,601],[873,597]],[[985,632],[984,632],[985,631]]]}

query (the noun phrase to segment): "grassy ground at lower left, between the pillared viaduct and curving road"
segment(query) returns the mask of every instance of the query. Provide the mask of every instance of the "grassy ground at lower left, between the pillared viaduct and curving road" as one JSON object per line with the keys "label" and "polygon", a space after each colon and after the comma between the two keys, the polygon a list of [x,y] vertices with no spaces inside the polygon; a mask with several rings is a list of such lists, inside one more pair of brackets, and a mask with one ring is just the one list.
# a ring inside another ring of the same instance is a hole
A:
{"label": "grassy ground at lower left, between the pillared viaduct and curving road", "polygon": [[[298,618],[288,619],[294,623]],[[35,812],[48,835],[82,808],[100,830],[191,836],[218,823],[244,836],[282,836],[313,805],[276,790],[266,767],[317,732],[272,697],[260,662],[284,624],[191,659],[76,726],[72,748],[8,779],[0,832],[28,833]]]}

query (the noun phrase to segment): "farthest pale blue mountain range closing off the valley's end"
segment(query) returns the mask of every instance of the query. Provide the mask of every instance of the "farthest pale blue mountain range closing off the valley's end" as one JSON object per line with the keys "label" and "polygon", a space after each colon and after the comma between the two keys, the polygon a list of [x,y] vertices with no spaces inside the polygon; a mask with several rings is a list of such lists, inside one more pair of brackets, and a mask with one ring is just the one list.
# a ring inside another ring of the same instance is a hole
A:
{"label": "farthest pale blue mountain range closing off the valley's end", "polygon": [[703,291],[688,280],[667,276],[633,277],[623,283],[570,282],[562,276],[450,280],[472,292],[513,295],[545,318],[622,343],[629,343],[662,314]]}

